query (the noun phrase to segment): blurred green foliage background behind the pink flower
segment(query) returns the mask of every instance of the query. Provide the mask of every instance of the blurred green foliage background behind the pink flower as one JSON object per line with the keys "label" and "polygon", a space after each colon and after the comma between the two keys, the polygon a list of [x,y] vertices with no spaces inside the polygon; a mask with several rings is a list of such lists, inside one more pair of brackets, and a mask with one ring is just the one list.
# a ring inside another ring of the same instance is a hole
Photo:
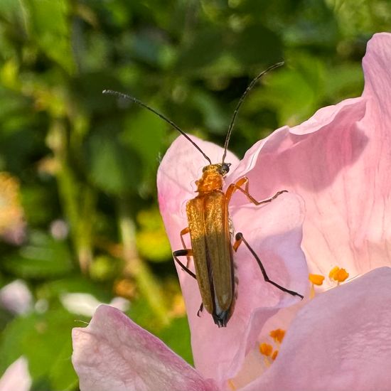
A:
{"label": "blurred green foliage background behind the pink flower", "polygon": [[0,286],[23,280],[33,307],[0,309],[0,374],[25,355],[34,391],[78,389],[70,330],[89,317],[70,312],[69,293],[126,297],[134,321],[192,360],[156,203],[178,134],[102,90],[223,144],[252,77],[284,59],[241,109],[230,148],[242,156],[360,95],[366,42],[390,26],[387,0],[1,0],[0,171],[18,178],[27,225],[23,242],[0,243]]}

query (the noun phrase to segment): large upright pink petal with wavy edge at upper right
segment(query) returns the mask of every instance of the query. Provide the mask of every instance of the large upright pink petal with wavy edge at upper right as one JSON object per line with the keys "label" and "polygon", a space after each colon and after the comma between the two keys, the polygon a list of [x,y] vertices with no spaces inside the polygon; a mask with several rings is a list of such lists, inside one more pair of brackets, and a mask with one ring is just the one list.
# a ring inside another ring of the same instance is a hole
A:
{"label": "large upright pink petal with wavy edge at upper right", "polygon": [[281,188],[304,198],[303,248],[313,273],[338,265],[354,276],[390,265],[390,63],[391,35],[376,34],[363,60],[363,97],[278,129],[232,173],[238,178],[250,169],[256,198]]}

